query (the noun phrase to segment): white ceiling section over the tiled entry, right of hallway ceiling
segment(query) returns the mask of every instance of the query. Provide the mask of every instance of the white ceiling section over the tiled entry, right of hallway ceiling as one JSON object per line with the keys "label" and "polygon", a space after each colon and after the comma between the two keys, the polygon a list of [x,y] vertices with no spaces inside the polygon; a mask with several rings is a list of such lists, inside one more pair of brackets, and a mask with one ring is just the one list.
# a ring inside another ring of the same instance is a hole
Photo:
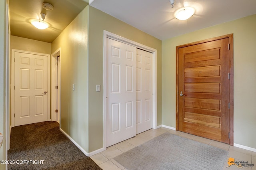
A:
{"label": "white ceiling section over the tiled entry, right of hallway ceiling", "polygon": [[[160,40],[256,14],[256,0],[94,0],[97,8]],[[174,12],[195,8],[194,16],[181,21]]]}

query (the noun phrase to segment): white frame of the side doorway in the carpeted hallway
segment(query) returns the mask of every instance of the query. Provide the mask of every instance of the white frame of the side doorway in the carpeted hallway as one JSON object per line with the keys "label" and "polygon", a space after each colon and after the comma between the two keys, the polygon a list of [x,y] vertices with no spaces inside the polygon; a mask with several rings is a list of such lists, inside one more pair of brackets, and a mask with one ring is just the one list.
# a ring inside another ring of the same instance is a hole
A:
{"label": "white frame of the side doorway in the carpeted hallway", "polygon": [[[60,76],[61,72],[60,69],[56,70],[56,62],[57,62],[57,57],[60,56],[61,53],[61,48],[58,48],[56,51],[54,51],[51,55],[51,120],[52,121],[57,121],[57,115],[55,114],[55,109],[56,105],[58,103],[58,112],[60,113],[60,93],[57,93],[57,90],[59,89],[60,92],[60,85],[58,85],[58,89],[55,89],[56,82],[57,80],[57,74]],[[60,65],[60,63],[58,63]],[[60,77],[61,78],[61,77]],[[60,82],[59,82],[60,83]],[[56,95],[57,94],[57,95]]]}

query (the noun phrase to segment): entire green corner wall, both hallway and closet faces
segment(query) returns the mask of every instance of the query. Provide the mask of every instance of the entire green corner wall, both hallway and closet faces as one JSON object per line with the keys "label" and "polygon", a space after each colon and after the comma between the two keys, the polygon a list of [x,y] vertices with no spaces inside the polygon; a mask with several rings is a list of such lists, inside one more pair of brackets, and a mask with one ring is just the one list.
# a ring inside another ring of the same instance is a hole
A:
{"label": "entire green corner wall, both hallway and closet faces", "polygon": [[103,148],[103,88],[95,91],[96,84],[103,87],[103,30],[157,49],[157,118],[162,124],[161,41],[87,6],[52,42],[52,53],[61,48],[60,127],[88,153]]}

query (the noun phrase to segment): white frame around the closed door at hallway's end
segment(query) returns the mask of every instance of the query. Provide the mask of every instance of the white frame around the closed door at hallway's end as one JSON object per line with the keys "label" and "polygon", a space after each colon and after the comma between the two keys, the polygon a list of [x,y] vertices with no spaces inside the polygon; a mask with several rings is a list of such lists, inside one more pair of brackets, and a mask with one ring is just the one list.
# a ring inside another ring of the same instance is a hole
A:
{"label": "white frame around the closed door at hallway's end", "polygon": [[19,49],[12,49],[12,73],[11,73],[11,119],[12,119],[12,125],[11,127],[15,127],[15,120],[14,120],[14,84],[15,84],[15,74],[14,74],[14,54],[15,52],[20,52],[20,53],[28,53],[28,54],[34,54],[34,55],[43,55],[47,57],[48,61],[48,103],[47,103],[47,121],[51,121],[50,119],[50,54],[45,54],[45,53],[36,53],[32,51],[24,51],[24,50],[19,50]]}

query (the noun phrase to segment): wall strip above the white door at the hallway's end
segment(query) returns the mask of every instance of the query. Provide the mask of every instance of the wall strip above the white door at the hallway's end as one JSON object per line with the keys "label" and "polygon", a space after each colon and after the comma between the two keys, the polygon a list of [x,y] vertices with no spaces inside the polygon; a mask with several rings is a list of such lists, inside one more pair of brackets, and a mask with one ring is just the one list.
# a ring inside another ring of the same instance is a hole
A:
{"label": "wall strip above the white door at the hallway's end", "polygon": [[51,43],[31,40],[28,38],[22,38],[17,36],[11,36],[10,42],[11,42],[11,49],[19,49],[19,50],[32,51],[32,52],[44,53],[44,54],[52,53]]}

